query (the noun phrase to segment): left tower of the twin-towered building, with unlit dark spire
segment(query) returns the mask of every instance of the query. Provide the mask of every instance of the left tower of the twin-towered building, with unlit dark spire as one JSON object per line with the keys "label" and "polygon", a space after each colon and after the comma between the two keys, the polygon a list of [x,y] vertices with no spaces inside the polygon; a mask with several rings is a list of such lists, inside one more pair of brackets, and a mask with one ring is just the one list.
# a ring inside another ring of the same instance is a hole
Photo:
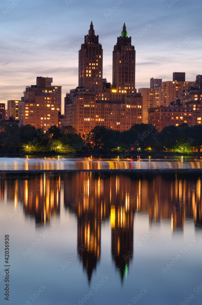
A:
{"label": "left tower of the twin-towered building, with unlit dark spire", "polygon": [[97,97],[103,88],[103,49],[99,44],[99,36],[95,35],[92,21],[79,50],[78,65],[79,87],[92,89]]}

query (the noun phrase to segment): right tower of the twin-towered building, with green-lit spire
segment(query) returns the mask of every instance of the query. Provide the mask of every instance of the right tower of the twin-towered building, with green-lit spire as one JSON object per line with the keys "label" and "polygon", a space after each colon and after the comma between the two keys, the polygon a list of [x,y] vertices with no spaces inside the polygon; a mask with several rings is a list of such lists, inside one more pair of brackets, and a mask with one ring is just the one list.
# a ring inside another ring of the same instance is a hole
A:
{"label": "right tower of the twin-towered building, with green-lit spire", "polygon": [[131,45],[124,23],[113,51],[113,85],[117,92],[135,92],[135,48]]}

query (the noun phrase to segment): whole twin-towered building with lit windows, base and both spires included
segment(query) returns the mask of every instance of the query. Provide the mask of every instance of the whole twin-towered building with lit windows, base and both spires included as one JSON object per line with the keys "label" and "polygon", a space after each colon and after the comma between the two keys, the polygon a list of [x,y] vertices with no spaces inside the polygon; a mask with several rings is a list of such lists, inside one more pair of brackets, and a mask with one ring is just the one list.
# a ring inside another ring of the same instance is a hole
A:
{"label": "whole twin-towered building with lit windows, base and both spires included", "polygon": [[135,90],[135,50],[125,24],[114,46],[112,88],[103,85],[103,50],[92,22],[79,51],[78,75],[79,87],[66,94],[64,125],[83,135],[96,125],[124,131],[142,123],[142,97]]}

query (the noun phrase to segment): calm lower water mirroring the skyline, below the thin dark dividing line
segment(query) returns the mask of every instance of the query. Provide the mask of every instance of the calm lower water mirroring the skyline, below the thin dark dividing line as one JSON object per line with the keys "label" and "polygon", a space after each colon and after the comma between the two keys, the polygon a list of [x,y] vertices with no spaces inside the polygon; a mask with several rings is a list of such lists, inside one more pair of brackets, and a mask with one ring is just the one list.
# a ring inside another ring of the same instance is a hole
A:
{"label": "calm lower water mirroring the skyline, below the thin dark dividing line", "polygon": [[200,174],[4,174],[1,304],[7,234],[12,305],[201,304],[201,191]]}

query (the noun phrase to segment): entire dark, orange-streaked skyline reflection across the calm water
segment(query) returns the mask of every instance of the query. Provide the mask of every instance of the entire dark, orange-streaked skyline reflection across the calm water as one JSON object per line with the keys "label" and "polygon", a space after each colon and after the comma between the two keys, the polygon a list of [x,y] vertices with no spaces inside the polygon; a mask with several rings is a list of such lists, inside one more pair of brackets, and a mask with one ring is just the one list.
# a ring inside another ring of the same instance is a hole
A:
{"label": "entire dark, orange-streaked skyline reflection across the calm water", "polygon": [[[183,231],[187,217],[194,219],[195,228],[202,227],[201,181],[190,175],[189,179],[172,174],[145,178],[144,174],[78,172],[7,177],[0,178],[0,200],[13,200],[14,209],[23,203],[25,214],[40,225],[60,213],[62,188],[65,207],[78,217],[78,252],[89,281],[100,258],[104,221],[111,221],[111,254],[122,279],[133,257],[136,211],[149,213],[150,224],[170,220],[173,233]],[[85,250],[79,250],[83,246]]]}

